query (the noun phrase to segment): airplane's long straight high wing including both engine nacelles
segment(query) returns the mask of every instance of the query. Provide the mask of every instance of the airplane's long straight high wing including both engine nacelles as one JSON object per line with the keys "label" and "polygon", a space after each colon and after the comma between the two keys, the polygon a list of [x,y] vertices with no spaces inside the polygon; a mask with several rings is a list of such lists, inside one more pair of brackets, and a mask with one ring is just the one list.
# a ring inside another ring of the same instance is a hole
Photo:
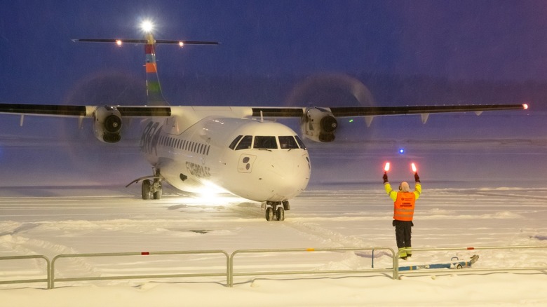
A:
{"label": "airplane's long straight high wing including both engine nacelles", "polygon": [[297,117],[302,118],[302,131],[316,142],[332,142],[338,127],[337,117],[363,116],[370,126],[376,116],[420,114],[426,123],[429,114],[482,111],[523,110],[527,104],[468,104],[444,106],[404,107],[131,107],[131,106],[74,106],[58,104],[0,104],[0,114],[19,114],[20,125],[26,114],[36,116],[73,116],[94,118],[95,137],[102,142],[119,142],[122,118],[182,116],[186,125],[193,125],[207,116],[227,117]]}

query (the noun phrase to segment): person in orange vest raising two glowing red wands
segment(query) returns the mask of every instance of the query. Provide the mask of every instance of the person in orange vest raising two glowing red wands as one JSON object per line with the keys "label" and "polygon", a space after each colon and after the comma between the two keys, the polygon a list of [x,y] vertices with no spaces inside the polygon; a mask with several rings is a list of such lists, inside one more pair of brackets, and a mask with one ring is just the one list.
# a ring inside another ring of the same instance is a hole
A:
{"label": "person in orange vest raising two glowing red wands", "polygon": [[389,184],[387,172],[384,172],[384,188],[388,196],[395,202],[393,203],[393,226],[395,226],[399,256],[404,260],[412,256],[412,250],[410,250],[412,244],[410,240],[412,226],[414,226],[412,223],[414,203],[421,194],[421,183],[418,172],[414,172],[414,180],[416,181],[414,191],[410,191],[410,186],[407,182],[401,182],[399,191],[394,191],[391,189],[391,184]]}

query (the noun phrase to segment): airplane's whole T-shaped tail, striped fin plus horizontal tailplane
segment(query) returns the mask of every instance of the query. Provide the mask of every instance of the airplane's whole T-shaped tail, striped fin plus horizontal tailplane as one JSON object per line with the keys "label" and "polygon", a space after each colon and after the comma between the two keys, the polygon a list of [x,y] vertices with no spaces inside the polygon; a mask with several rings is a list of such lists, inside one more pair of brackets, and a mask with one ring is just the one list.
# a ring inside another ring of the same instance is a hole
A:
{"label": "airplane's whole T-shaped tail, striped fin plus horizontal tailplane", "polygon": [[177,44],[180,47],[183,47],[184,45],[220,45],[217,41],[169,41],[164,39],[156,41],[151,33],[146,35],[146,39],[73,39],[72,41],[116,43],[118,46],[121,46],[123,43],[144,43],[144,53],[146,53],[145,69],[147,71],[147,105],[149,106],[169,105],[161,93],[161,86],[158,78],[158,67],[156,65],[157,44]]}

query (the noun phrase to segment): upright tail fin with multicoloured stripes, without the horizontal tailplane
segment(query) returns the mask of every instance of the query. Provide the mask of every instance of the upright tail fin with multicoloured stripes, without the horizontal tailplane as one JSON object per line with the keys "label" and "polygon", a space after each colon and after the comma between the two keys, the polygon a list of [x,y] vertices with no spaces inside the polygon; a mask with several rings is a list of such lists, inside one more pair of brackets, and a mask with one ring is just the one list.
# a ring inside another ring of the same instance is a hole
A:
{"label": "upright tail fin with multicoloured stripes, without the horizontal tailplane", "polygon": [[169,103],[161,93],[161,86],[158,78],[158,66],[156,64],[156,40],[149,33],[146,36],[147,43],[144,45],[146,53],[146,64],[144,67],[147,71],[147,104],[149,106],[166,106]]}

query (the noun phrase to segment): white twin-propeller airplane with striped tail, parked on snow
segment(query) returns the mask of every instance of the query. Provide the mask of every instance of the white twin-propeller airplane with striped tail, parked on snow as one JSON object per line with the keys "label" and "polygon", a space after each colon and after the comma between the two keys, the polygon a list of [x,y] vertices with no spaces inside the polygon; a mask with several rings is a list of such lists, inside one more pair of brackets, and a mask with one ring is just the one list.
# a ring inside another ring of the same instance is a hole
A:
{"label": "white twin-propeller airplane with striped tail, parked on snow", "polygon": [[[219,45],[214,41],[144,39],[74,39],[76,42],[144,44],[147,105],[0,104],[0,114],[93,119],[95,137],[121,140],[122,118],[142,118],[140,150],[152,174],[142,182],[142,199],[161,199],[163,183],[194,193],[228,192],[262,203],[267,221],[283,221],[289,200],[302,193],[311,175],[306,145],[287,125],[266,118],[300,118],[302,136],[333,142],[337,118],[473,111],[522,110],[527,104],[422,105],[405,107],[218,107],[173,106],[163,97],[156,64],[156,45]],[[128,184],[127,186],[130,186]]]}

